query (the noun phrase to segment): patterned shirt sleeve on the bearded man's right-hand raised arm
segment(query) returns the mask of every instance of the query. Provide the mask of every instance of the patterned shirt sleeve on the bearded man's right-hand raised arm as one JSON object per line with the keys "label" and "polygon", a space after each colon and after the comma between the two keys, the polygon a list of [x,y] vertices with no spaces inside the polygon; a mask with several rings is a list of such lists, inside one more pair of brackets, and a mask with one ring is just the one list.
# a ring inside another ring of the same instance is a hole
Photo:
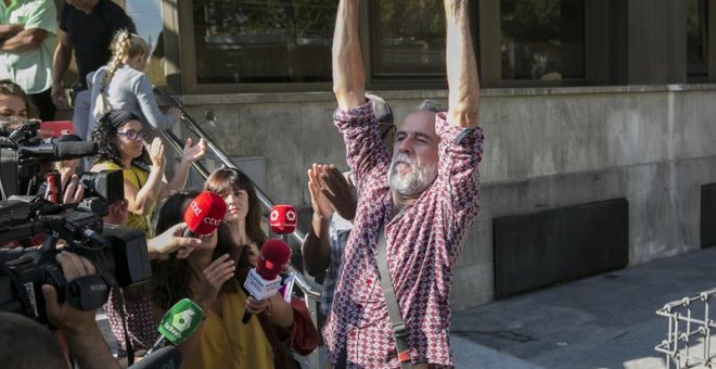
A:
{"label": "patterned shirt sleeve on the bearded man's right-hand raised arm", "polygon": [[[483,129],[450,125],[445,113],[437,114],[435,131],[440,137],[437,183],[445,211],[448,244],[461,245],[480,207],[480,175],[483,158]],[[457,252],[457,253],[456,253]],[[459,255],[451,250],[452,257]]]}

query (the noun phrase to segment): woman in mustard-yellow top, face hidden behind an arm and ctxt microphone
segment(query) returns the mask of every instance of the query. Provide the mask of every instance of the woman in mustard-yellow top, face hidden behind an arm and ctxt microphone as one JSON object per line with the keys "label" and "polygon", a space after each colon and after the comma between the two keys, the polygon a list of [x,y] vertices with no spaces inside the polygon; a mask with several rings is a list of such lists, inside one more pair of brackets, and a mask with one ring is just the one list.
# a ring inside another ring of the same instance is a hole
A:
{"label": "woman in mustard-yellow top, face hidden behind an arm and ctxt microphone", "polygon": [[[169,196],[157,209],[156,232],[182,221],[193,193]],[[231,256],[236,255],[238,256]],[[179,346],[187,368],[273,368],[273,349],[261,320],[289,327],[291,306],[280,296],[257,302],[247,297],[241,285],[252,267],[248,247],[236,245],[227,225],[202,239],[202,244],[186,258],[157,263],[153,270],[155,316],[183,297],[204,309],[206,319],[199,330]],[[283,302],[281,304],[280,302]],[[244,311],[256,314],[247,325]]]}

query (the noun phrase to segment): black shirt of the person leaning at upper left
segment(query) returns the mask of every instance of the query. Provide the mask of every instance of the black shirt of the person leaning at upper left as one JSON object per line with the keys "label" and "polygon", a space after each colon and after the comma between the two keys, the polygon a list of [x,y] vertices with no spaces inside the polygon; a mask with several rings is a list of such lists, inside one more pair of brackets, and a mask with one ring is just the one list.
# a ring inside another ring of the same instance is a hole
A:
{"label": "black shirt of the person leaning at upper left", "polygon": [[110,62],[112,38],[123,28],[137,33],[131,18],[111,0],[100,0],[91,14],[66,3],[63,5],[60,29],[67,33],[69,43],[75,49],[82,89],[87,89],[87,74]]}

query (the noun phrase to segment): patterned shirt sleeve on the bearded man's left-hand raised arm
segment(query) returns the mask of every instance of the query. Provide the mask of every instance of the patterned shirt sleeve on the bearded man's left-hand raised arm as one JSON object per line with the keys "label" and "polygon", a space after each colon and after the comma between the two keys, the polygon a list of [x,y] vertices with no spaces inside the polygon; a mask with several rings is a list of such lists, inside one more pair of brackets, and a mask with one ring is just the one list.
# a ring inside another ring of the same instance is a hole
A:
{"label": "patterned shirt sleeve on the bearded man's left-hand raised arm", "polygon": [[356,177],[356,187],[387,171],[391,160],[381,140],[370,102],[349,110],[336,110],[333,120],[346,144],[346,162]]}

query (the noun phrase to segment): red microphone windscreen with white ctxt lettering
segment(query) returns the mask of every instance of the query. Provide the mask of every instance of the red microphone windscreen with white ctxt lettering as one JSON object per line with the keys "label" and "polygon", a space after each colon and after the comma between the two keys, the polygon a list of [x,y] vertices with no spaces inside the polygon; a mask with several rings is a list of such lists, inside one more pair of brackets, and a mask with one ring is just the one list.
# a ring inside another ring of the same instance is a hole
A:
{"label": "red microphone windscreen with white ctxt lettering", "polygon": [[212,234],[227,215],[227,203],[218,193],[204,191],[191,201],[184,212],[184,222],[193,233]]}

